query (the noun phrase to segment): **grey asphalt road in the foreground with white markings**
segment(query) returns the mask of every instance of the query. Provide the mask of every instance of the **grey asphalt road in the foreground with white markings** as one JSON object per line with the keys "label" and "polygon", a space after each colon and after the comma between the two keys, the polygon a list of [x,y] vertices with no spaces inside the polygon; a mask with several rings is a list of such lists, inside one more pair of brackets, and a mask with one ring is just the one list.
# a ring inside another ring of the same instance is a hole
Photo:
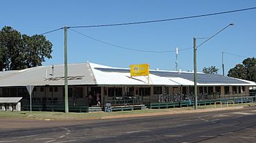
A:
{"label": "grey asphalt road in the foreground with white markings", "polygon": [[0,119],[5,123],[10,127],[0,128],[0,143],[256,142],[256,107],[108,120]]}

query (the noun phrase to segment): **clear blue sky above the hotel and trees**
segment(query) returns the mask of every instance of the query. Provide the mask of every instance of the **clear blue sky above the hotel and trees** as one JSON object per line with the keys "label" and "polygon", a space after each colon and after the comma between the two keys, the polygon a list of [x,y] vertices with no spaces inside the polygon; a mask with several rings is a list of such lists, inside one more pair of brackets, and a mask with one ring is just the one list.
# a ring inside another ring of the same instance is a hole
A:
{"label": "clear blue sky above the hotel and trees", "polygon": [[[15,1],[0,2],[0,28],[11,26],[21,34],[42,34],[57,28],[78,25],[104,25],[172,19],[200,14],[210,14],[256,6],[255,0],[93,0],[93,1]],[[174,51],[176,47],[193,47],[193,37],[214,36],[197,50],[197,71],[203,67],[216,66],[222,74],[221,58],[224,53],[225,74],[246,57],[256,55],[256,9],[211,17],[182,19],[140,25],[122,25],[104,28],[68,29],[68,63],[98,63],[111,67],[127,67],[131,64],[148,63],[150,69],[174,70],[176,55],[172,53],[147,53],[124,50],[100,43],[136,50]],[[93,37],[89,39],[82,34]],[[64,63],[64,30],[45,34],[53,43],[53,58],[43,65]],[[196,39],[197,45],[205,39]],[[234,56],[239,55],[239,56]],[[192,71],[193,50],[183,50],[178,54],[178,68]]]}

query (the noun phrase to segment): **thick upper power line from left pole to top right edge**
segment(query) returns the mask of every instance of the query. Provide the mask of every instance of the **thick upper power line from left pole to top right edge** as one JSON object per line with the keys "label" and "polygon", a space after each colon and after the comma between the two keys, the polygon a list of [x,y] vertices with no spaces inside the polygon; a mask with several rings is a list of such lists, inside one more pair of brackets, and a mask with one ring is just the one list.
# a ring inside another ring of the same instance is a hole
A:
{"label": "thick upper power line from left pole to top right edge", "polygon": [[181,19],[194,19],[197,17],[209,17],[213,15],[219,15],[219,14],[228,14],[232,12],[242,12],[246,10],[254,10],[256,7],[253,8],[244,8],[239,10],[230,10],[225,12],[216,12],[216,13],[210,13],[210,14],[201,14],[201,15],[195,15],[195,16],[189,16],[189,17],[179,17],[179,18],[172,18],[172,19],[160,19],[160,20],[153,20],[153,21],[139,21],[139,22],[131,22],[131,23],[114,23],[114,24],[104,24],[104,25],[81,25],[81,26],[71,26],[68,28],[99,28],[99,27],[109,27],[109,26],[120,26],[120,25],[135,25],[135,24],[143,24],[143,23],[156,23],[156,22],[163,22],[163,21],[176,21]]}

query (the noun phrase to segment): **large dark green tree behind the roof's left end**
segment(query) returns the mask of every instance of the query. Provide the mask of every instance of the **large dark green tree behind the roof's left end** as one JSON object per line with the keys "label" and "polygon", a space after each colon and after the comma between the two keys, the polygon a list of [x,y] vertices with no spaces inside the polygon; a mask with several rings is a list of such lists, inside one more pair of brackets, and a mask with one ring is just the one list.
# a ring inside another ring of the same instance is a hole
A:
{"label": "large dark green tree behind the roof's left end", "polygon": [[42,65],[45,58],[52,58],[52,47],[43,35],[28,36],[5,26],[0,31],[0,71]]}

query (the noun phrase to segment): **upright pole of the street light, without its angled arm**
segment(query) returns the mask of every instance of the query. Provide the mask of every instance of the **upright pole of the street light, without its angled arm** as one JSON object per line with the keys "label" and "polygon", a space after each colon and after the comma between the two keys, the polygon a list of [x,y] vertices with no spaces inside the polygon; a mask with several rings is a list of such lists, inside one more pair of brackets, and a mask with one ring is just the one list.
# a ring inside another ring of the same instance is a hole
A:
{"label": "upright pole of the street light, without its angled arm", "polygon": [[197,85],[196,85],[196,38],[194,38],[194,109],[197,109]]}

